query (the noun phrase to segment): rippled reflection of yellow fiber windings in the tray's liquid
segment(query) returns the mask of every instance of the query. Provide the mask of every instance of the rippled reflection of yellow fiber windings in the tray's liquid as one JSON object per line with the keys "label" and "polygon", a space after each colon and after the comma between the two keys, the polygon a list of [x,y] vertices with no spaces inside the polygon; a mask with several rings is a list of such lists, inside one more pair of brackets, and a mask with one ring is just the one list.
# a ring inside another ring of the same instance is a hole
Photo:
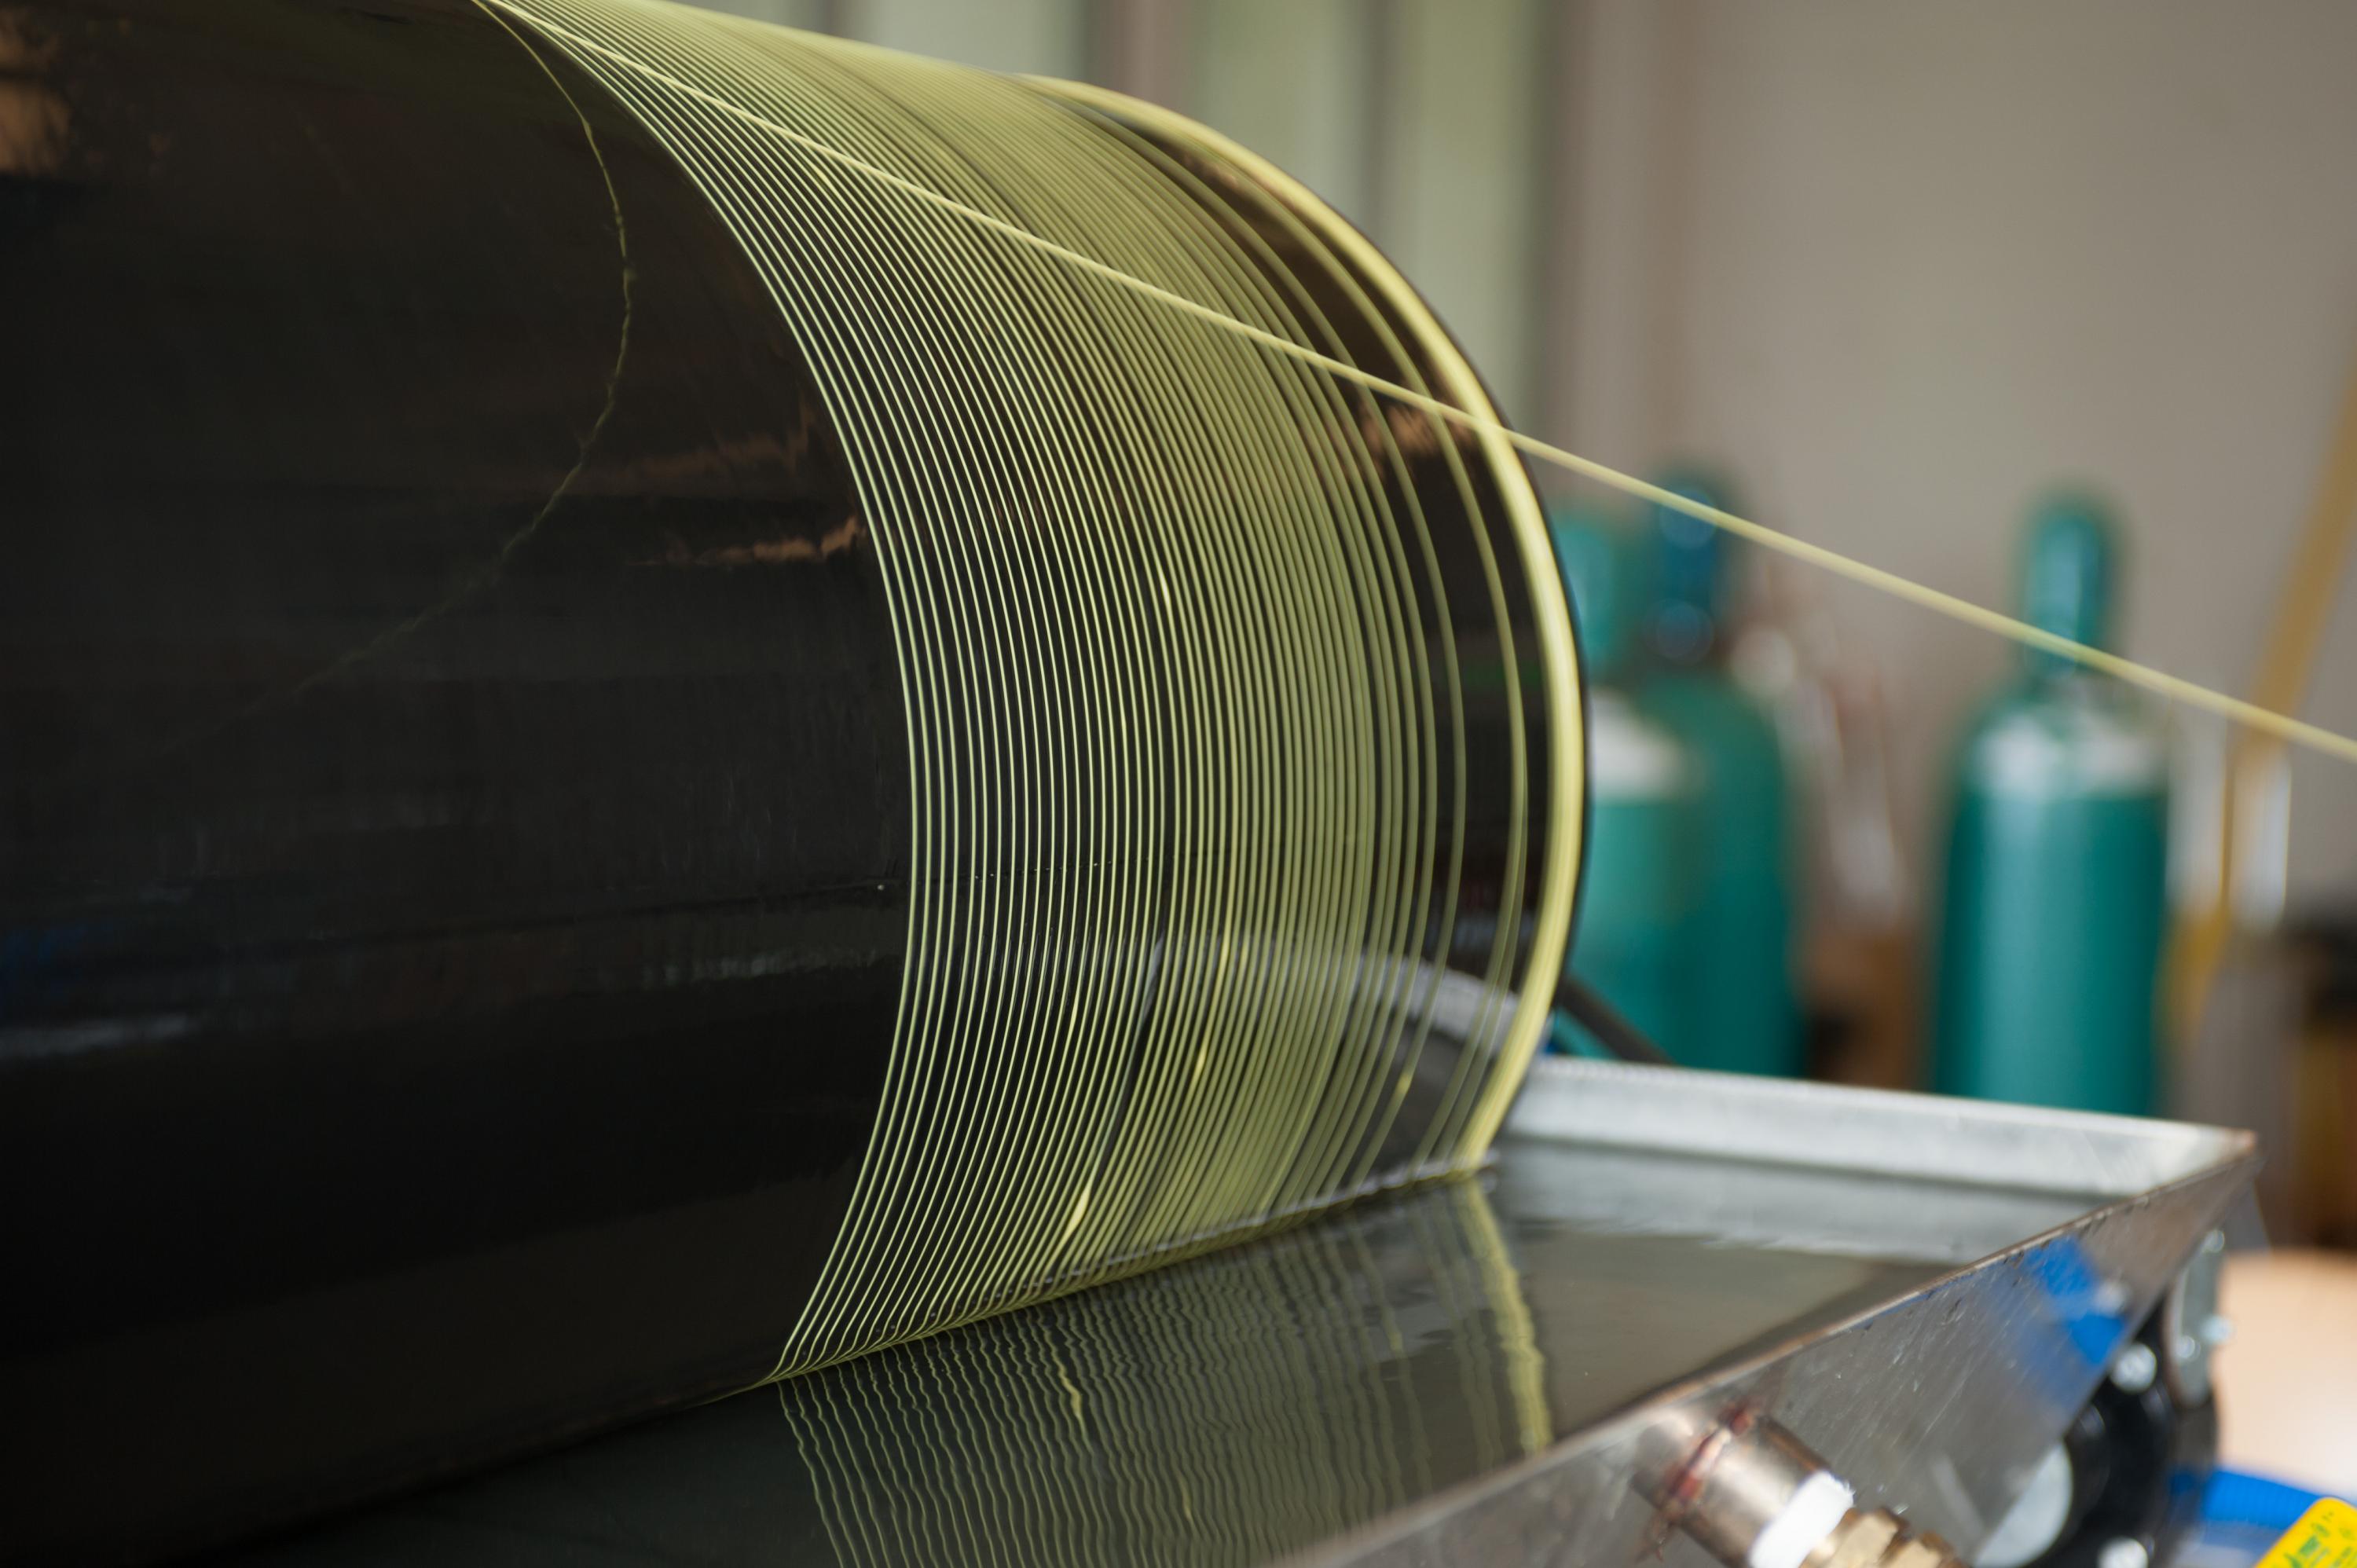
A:
{"label": "rippled reflection of yellow fiber windings in the tray's liquid", "polygon": [[778,1389],[846,1568],[1263,1561],[1551,1436],[1473,1181]]}

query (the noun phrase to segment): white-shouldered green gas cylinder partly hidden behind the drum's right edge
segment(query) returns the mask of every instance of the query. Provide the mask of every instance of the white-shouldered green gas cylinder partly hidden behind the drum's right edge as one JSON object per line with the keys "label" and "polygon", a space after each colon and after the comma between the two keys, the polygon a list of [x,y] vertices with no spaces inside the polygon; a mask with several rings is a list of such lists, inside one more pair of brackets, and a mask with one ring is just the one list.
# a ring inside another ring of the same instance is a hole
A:
{"label": "white-shouldered green gas cylinder partly hidden behind the drum's right edge", "polygon": [[[1586,870],[1567,964],[1669,1049],[1692,1035],[1699,778],[1678,738],[1648,719],[1624,684],[1638,611],[1629,535],[1579,507],[1558,509],[1549,523],[1589,679]],[[1551,1045],[1600,1054],[1560,1014]]]}

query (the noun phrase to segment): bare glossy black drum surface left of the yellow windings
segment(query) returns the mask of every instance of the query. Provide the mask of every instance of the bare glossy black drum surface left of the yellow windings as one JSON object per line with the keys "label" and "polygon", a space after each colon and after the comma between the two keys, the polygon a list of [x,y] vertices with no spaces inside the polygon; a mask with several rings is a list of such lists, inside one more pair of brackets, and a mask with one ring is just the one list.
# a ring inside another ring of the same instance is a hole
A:
{"label": "bare glossy black drum surface left of the yellow windings", "polygon": [[469,5],[0,50],[0,1556],[766,1375],[907,908],[773,302]]}

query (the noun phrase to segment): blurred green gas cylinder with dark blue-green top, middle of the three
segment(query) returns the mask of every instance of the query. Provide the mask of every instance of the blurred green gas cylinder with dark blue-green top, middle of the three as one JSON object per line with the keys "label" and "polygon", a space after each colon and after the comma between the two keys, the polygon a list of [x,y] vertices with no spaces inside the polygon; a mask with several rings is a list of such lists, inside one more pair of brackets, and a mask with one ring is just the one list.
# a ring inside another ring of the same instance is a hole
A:
{"label": "blurred green gas cylinder with dark blue-green top, middle of the three", "polygon": [[[1730,505],[1725,488],[1699,472],[1659,483],[1688,500]],[[1638,707],[1695,759],[1704,818],[1697,938],[1706,969],[1690,1033],[1662,1045],[1697,1068],[1796,1075],[1805,1040],[1791,950],[1791,790],[1775,717],[1728,672],[1737,540],[1669,507],[1648,512],[1652,670]]]}

